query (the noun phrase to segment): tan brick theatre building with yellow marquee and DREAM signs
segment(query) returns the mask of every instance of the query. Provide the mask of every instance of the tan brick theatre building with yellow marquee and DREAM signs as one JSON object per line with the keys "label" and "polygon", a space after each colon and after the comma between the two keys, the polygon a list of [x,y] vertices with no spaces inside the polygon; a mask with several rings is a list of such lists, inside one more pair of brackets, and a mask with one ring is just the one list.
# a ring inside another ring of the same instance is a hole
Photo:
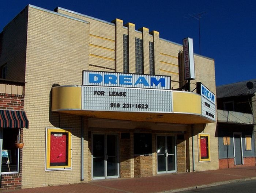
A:
{"label": "tan brick theatre building with yellow marquee and DREAM signs", "polygon": [[20,12],[0,70],[25,82],[22,188],[218,169],[214,59],[183,42],[60,7]]}

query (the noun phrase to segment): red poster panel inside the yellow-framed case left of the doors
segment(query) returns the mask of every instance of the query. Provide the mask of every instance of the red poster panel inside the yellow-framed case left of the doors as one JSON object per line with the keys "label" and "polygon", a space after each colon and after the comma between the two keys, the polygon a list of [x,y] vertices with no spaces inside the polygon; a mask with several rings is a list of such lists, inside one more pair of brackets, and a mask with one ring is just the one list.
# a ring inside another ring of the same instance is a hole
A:
{"label": "red poster panel inside the yellow-framed case left of the doors", "polygon": [[67,135],[52,133],[50,136],[50,163],[66,163]]}

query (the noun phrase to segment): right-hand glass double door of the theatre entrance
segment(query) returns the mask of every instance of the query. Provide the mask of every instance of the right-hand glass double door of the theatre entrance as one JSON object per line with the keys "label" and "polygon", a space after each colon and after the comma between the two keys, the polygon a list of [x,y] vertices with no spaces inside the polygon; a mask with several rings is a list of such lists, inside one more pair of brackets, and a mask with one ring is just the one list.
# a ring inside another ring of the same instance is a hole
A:
{"label": "right-hand glass double door of the theatre entrance", "polygon": [[174,136],[157,136],[157,172],[176,171],[176,142]]}

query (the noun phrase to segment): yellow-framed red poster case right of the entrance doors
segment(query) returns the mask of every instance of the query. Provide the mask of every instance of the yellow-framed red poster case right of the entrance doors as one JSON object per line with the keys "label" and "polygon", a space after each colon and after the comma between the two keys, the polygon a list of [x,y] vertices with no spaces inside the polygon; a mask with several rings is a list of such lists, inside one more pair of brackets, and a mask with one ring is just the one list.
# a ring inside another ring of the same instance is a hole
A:
{"label": "yellow-framed red poster case right of the entrance doors", "polygon": [[199,134],[199,161],[210,161],[210,135]]}

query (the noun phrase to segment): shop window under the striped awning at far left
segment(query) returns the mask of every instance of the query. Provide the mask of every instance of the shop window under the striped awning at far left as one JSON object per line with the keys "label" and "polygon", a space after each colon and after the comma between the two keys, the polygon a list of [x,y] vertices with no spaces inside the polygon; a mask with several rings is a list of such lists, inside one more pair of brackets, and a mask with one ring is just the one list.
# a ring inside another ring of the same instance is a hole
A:
{"label": "shop window under the striped awning at far left", "polygon": [[2,129],[3,145],[1,148],[1,173],[17,173],[19,170],[19,149],[15,142],[19,134],[18,128]]}

